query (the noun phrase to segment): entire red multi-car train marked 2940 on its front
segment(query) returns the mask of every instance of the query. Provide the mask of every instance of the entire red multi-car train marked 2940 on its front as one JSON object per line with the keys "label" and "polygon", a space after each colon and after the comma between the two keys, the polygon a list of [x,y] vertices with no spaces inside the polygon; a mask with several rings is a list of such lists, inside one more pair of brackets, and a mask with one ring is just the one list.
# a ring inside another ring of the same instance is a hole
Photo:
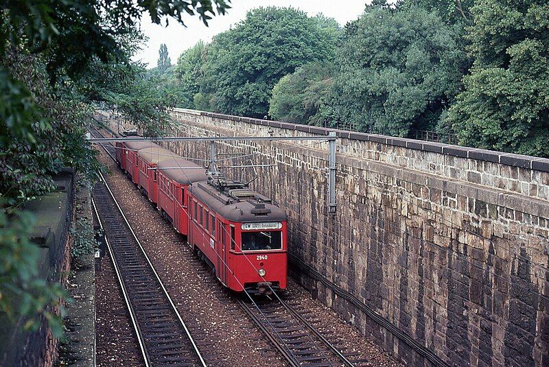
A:
{"label": "entire red multi-car train marked 2940 on its front", "polygon": [[150,141],[116,146],[120,167],[178,233],[187,236],[223,285],[251,294],[287,287],[283,209],[246,184],[206,172]]}

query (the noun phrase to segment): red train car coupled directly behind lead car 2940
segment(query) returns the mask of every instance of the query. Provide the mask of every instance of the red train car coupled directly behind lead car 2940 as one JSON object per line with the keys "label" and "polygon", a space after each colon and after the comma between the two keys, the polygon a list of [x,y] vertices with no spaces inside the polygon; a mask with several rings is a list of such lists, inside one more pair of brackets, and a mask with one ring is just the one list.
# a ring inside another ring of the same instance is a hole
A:
{"label": "red train car coupled directly behind lead car 2940", "polygon": [[158,208],[182,235],[189,233],[187,190],[193,182],[207,180],[206,169],[184,158],[160,162],[158,169]]}

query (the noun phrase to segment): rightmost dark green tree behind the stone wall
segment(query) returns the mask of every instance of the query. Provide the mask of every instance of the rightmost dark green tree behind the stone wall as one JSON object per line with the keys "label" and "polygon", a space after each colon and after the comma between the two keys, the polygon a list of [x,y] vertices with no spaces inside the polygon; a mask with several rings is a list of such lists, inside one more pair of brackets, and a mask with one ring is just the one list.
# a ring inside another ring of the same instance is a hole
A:
{"label": "rightmost dark green tree behind the stone wall", "polygon": [[474,65],[445,122],[464,145],[549,156],[549,4],[484,0],[471,12]]}

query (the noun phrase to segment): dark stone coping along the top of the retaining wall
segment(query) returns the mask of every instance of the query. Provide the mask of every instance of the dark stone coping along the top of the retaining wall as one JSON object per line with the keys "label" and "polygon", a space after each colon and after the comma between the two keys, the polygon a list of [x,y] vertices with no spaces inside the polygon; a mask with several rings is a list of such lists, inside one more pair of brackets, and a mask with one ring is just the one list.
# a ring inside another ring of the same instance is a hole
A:
{"label": "dark stone coping along the top of the retaining wall", "polygon": [[432,141],[389,137],[387,135],[368,134],[366,132],[320,128],[318,126],[301,125],[299,123],[288,123],[264,119],[253,119],[251,117],[223,115],[220,113],[209,113],[199,110],[188,110],[185,108],[173,108],[173,110],[174,112],[179,113],[189,113],[197,116],[228,119],[231,121],[243,121],[247,123],[255,123],[262,126],[272,126],[273,128],[283,128],[288,130],[307,132],[309,134],[329,135],[330,132],[336,132],[336,137],[339,137],[341,139],[372,141],[373,143],[393,145],[396,147],[406,147],[414,150],[422,150],[423,152],[434,152],[439,154],[445,154],[448,156],[471,158],[476,159],[477,161],[500,163],[502,165],[510,165],[512,167],[528,168],[534,169],[536,171],[549,172],[549,159],[536,156],[525,156],[522,154],[498,152],[495,150],[485,150],[474,147],[463,147],[460,145],[436,143]]}

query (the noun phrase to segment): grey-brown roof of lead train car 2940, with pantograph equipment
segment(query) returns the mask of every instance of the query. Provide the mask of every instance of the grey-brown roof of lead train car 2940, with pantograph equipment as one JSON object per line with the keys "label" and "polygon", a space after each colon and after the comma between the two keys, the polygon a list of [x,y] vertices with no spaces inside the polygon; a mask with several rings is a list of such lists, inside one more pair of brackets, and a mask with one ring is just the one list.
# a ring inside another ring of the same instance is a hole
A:
{"label": "grey-brown roof of lead train car 2940, with pantograph equipment", "polygon": [[220,190],[208,181],[194,182],[189,190],[192,196],[206,204],[209,209],[232,222],[281,222],[288,220],[279,206],[269,198],[248,189]]}

